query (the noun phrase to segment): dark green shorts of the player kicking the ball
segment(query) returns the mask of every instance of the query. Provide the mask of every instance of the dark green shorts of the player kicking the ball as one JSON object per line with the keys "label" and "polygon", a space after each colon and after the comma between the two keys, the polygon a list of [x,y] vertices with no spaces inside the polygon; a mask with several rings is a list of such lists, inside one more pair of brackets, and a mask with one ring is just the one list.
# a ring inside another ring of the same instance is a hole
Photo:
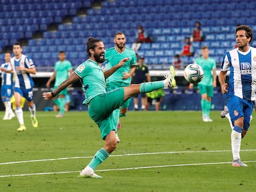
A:
{"label": "dark green shorts of the player kicking the ball", "polygon": [[118,88],[104,94],[99,94],[90,101],[88,113],[92,120],[97,123],[101,131],[101,138],[112,130],[116,130],[113,120],[113,111],[124,103],[124,88]]}

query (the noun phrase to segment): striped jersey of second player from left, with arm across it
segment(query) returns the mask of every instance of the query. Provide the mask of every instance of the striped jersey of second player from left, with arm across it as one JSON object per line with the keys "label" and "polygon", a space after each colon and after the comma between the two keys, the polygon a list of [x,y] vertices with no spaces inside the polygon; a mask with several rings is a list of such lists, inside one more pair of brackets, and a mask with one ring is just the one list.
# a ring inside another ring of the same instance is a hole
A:
{"label": "striped jersey of second player from left, with arm across it", "polygon": [[15,88],[22,88],[26,90],[33,88],[34,82],[32,77],[30,77],[30,74],[25,72],[24,70],[16,69],[16,67],[25,67],[27,69],[35,67],[32,59],[22,54],[20,59],[15,59],[15,57],[12,57],[10,62],[15,75]]}

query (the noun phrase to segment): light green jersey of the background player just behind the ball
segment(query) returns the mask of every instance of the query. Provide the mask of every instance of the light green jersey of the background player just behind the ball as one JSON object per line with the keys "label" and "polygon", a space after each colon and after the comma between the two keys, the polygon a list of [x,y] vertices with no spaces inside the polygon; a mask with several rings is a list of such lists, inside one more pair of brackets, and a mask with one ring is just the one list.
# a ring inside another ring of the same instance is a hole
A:
{"label": "light green jersey of the background player just behind the ball", "polygon": [[208,57],[208,59],[203,59],[203,57],[198,57],[195,59],[195,63],[200,65],[203,68],[203,79],[200,81],[201,85],[212,85],[213,84],[213,75],[211,70],[216,69],[215,59]]}

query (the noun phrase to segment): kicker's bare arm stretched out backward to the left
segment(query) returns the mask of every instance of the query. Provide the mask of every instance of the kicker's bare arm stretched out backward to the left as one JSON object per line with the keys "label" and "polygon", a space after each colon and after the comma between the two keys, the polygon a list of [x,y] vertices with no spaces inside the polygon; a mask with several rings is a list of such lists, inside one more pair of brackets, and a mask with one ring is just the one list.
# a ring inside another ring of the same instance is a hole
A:
{"label": "kicker's bare arm stretched out backward to the left", "polygon": [[45,100],[52,99],[56,97],[62,90],[64,90],[67,86],[69,86],[71,83],[74,83],[75,81],[78,81],[80,77],[76,73],[72,73],[67,80],[63,81],[61,85],[59,85],[56,90],[52,92],[46,92],[43,93],[42,96]]}

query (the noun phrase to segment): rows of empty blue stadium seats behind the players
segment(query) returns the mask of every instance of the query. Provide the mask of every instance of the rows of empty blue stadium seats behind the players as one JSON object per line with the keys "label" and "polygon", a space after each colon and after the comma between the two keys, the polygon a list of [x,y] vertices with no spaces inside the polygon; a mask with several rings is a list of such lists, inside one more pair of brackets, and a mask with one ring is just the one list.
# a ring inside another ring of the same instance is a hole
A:
{"label": "rows of empty blue stadium seats behind the players", "polygon": [[[147,28],[153,43],[143,44],[139,54],[145,56],[145,62],[151,69],[159,69],[161,64],[171,63],[174,54],[181,52],[182,41],[191,35],[197,20],[202,23],[206,34],[202,44],[212,49],[211,57],[220,63],[224,52],[234,47],[233,34],[238,23],[256,29],[256,2],[249,0],[239,3],[236,0],[231,3],[225,0],[0,2],[3,4],[0,7],[0,51],[5,51],[15,41],[27,40],[24,53],[35,60],[38,70],[51,70],[51,67],[44,67],[45,60],[53,66],[56,61],[54,54],[60,49],[69,52],[69,59],[74,65],[84,61],[83,43],[89,36],[101,38],[108,48],[113,46],[114,33],[121,30],[127,36],[127,46],[130,46],[140,24]],[[92,7],[93,2],[101,2],[101,6]],[[80,9],[86,9],[87,14],[77,15]],[[65,17],[71,17],[72,22],[63,22]],[[48,30],[51,25],[58,25],[57,30]],[[43,33],[42,38],[34,38],[38,32]],[[200,49],[197,42],[193,46]]]}

